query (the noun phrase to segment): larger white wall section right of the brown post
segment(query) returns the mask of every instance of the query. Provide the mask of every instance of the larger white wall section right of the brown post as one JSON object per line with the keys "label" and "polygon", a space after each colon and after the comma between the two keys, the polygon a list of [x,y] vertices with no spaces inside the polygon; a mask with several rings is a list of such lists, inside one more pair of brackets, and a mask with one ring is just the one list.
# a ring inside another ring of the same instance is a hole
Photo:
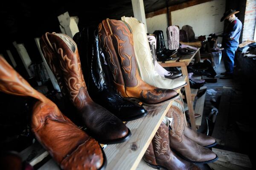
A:
{"label": "larger white wall section right of the brown post", "polygon": [[172,12],[172,25],[190,25],[195,36],[221,33],[224,23],[220,22],[225,12],[226,0],[212,0]]}

